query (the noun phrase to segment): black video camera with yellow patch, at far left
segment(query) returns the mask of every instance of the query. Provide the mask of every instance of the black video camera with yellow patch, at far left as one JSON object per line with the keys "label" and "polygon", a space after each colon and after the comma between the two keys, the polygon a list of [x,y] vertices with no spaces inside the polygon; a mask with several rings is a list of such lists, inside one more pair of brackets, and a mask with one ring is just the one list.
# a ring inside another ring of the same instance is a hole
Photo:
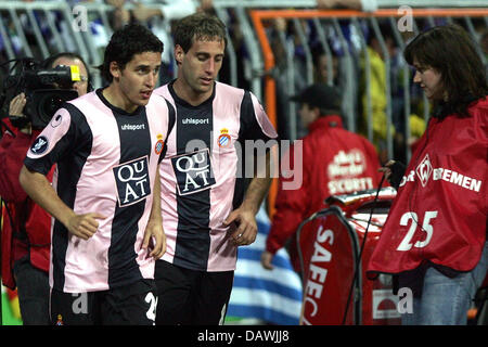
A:
{"label": "black video camera with yellow patch, at far left", "polygon": [[29,121],[33,129],[44,128],[61,105],[78,98],[73,83],[80,80],[76,65],[41,68],[41,64],[33,59],[17,60],[7,77],[1,95],[2,115],[9,114],[10,102],[20,93],[25,93],[26,104],[23,116],[10,116],[12,125],[24,128]]}

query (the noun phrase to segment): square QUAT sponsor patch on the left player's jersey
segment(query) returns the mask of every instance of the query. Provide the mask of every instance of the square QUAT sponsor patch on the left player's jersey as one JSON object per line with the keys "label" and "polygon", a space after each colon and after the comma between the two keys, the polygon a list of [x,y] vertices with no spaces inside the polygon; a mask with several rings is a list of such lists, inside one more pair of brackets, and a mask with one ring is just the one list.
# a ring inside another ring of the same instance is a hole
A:
{"label": "square QUAT sponsor patch on the left player's jersey", "polygon": [[113,168],[120,207],[136,204],[151,194],[147,165],[147,156],[143,156]]}

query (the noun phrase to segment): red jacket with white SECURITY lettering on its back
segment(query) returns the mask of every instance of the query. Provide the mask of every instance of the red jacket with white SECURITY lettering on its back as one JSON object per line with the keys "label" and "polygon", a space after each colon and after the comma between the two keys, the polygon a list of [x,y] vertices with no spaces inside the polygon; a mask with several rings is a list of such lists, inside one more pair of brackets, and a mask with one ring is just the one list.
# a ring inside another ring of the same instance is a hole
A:
{"label": "red jacket with white SECURITY lettering on its back", "polygon": [[[299,168],[300,162],[294,157],[294,150],[299,147],[299,143],[303,154],[297,151],[296,155],[303,158],[303,170]],[[291,178],[283,177],[287,175],[287,168],[295,172]],[[282,158],[282,169],[285,170],[282,170],[279,180],[275,214],[266,249],[274,254],[283,247],[304,219],[326,207],[324,200],[330,195],[377,188],[381,180],[378,168],[380,160],[373,144],[343,129],[339,116],[324,116],[313,121],[309,133],[301,142],[294,143],[290,155]],[[286,189],[284,185],[299,181],[299,178],[303,181],[299,188]],[[304,228],[301,235],[306,232],[307,228]],[[293,266],[298,271],[295,237],[290,250]]]}

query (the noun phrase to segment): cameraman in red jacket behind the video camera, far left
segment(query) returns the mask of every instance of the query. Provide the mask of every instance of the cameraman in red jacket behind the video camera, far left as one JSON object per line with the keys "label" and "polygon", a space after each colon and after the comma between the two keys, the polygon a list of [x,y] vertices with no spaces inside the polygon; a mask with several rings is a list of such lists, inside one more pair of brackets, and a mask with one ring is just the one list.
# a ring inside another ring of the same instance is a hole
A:
{"label": "cameraman in red jacket behind the video camera, far left", "polygon": [[[77,65],[80,81],[73,85],[78,95],[89,89],[88,67],[82,57],[74,53],[59,53],[43,62],[44,68]],[[24,93],[10,102],[9,114],[23,116],[26,104]],[[25,116],[24,116],[25,117]],[[30,123],[17,129],[8,118],[2,119],[0,140],[0,196],[7,202],[2,230],[2,282],[17,287],[21,314],[25,325],[50,324],[49,316],[49,254],[51,216],[35,204],[24,192],[18,175],[25,155],[41,129]],[[54,167],[48,175],[52,181]]]}

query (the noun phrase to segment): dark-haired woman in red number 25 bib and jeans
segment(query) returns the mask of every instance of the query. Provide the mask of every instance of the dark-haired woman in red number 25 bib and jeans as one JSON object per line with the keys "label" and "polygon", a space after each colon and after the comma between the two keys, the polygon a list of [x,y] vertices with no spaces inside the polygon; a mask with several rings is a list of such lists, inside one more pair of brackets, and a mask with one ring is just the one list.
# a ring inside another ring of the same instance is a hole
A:
{"label": "dark-haired woman in red number 25 bib and jeans", "polygon": [[402,324],[466,324],[488,268],[485,68],[457,25],[420,34],[404,57],[434,112],[407,170],[382,169],[398,194],[367,271],[398,274],[398,293],[410,292]]}

